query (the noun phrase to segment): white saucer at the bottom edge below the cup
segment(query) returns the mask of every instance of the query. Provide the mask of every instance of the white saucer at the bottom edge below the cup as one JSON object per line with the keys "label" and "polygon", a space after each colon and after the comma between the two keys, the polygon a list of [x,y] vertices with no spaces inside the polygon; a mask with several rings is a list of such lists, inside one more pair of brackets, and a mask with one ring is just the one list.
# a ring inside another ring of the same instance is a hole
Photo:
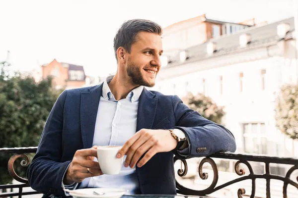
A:
{"label": "white saucer at the bottom edge below the cup", "polygon": [[[104,195],[94,195],[93,192],[105,193]],[[108,188],[88,188],[77,189],[69,194],[74,198],[121,198],[127,191],[123,189],[108,189]],[[76,194],[77,193],[77,194]]]}

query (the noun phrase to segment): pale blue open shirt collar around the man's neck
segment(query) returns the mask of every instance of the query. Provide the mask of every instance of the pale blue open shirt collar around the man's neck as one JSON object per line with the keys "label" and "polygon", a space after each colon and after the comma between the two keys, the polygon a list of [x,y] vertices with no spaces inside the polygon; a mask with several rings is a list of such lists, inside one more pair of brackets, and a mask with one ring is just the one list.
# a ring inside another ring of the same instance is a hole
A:
{"label": "pale blue open shirt collar around the man's neck", "polygon": [[[103,86],[102,86],[102,97],[104,99],[109,99],[109,100],[114,100],[116,101],[116,99],[114,98],[110,88],[109,88],[109,83],[111,82],[111,80],[113,79],[114,76],[108,76],[106,78],[106,80],[103,82]],[[138,101],[140,99],[140,96],[143,92],[144,86],[139,86],[137,88],[135,88],[134,90],[132,90],[128,95],[127,95],[127,99],[130,99],[131,102],[135,102]]]}

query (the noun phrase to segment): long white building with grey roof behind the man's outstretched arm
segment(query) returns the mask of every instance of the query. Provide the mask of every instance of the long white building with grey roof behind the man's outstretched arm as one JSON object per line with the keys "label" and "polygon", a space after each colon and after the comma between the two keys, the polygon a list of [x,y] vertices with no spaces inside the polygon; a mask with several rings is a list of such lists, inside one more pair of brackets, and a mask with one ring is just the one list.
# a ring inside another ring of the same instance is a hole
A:
{"label": "long white building with grey roof behind the man's outstretched arm", "polygon": [[168,52],[154,89],[179,97],[200,92],[224,106],[224,125],[235,135],[237,152],[298,156],[297,141],[275,122],[281,86],[298,80],[295,44],[290,18]]}

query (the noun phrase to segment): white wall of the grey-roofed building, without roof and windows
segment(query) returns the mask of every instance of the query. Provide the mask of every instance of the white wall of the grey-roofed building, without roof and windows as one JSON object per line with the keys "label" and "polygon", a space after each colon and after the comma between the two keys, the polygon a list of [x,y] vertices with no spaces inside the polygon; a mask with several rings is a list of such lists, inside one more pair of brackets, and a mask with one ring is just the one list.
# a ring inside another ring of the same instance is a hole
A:
{"label": "white wall of the grey-roofed building, without roof and windows", "polygon": [[[153,89],[166,95],[183,97],[186,91],[194,94],[203,92],[203,79],[205,79],[207,85],[205,94],[214,99],[218,105],[225,107],[224,124],[234,134],[238,152],[243,152],[242,124],[257,122],[265,123],[267,141],[270,142],[267,147],[269,155],[293,156],[298,153],[292,152],[293,149],[289,146],[291,141],[276,129],[274,111],[279,88],[285,83],[293,83],[298,79],[293,45],[295,45],[294,41],[286,42],[284,53],[280,53],[277,46],[272,47],[274,57],[267,56],[267,53],[260,56],[261,51],[265,49],[257,49],[229,55],[228,58],[222,56],[217,62],[211,59],[210,64],[198,61],[176,66],[173,69],[162,68],[163,71],[160,71],[161,75]],[[235,57],[238,57],[238,60],[233,59]],[[200,65],[204,65],[205,69]],[[266,69],[265,90],[262,90],[262,69]],[[240,72],[244,75],[242,93],[239,92]],[[221,75],[223,95],[220,94]],[[186,86],[187,82],[188,86]],[[281,146],[277,148],[276,145]]]}

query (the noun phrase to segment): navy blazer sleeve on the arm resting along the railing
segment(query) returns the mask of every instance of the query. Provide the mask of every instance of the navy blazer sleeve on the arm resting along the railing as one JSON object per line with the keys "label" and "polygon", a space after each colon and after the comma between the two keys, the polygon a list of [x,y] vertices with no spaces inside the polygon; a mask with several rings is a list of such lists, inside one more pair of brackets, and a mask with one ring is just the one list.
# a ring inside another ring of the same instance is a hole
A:
{"label": "navy blazer sleeve on the arm resting along the railing", "polygon": [[172,98],[173,111],[177,129],[182,130],[189,141],[189,154],[181,155],[174,151],[179,158],[208,156],[218,151],[236,150],[233,134],[220,124],[216,124],[197,111],[186,106],[178,96]]}

